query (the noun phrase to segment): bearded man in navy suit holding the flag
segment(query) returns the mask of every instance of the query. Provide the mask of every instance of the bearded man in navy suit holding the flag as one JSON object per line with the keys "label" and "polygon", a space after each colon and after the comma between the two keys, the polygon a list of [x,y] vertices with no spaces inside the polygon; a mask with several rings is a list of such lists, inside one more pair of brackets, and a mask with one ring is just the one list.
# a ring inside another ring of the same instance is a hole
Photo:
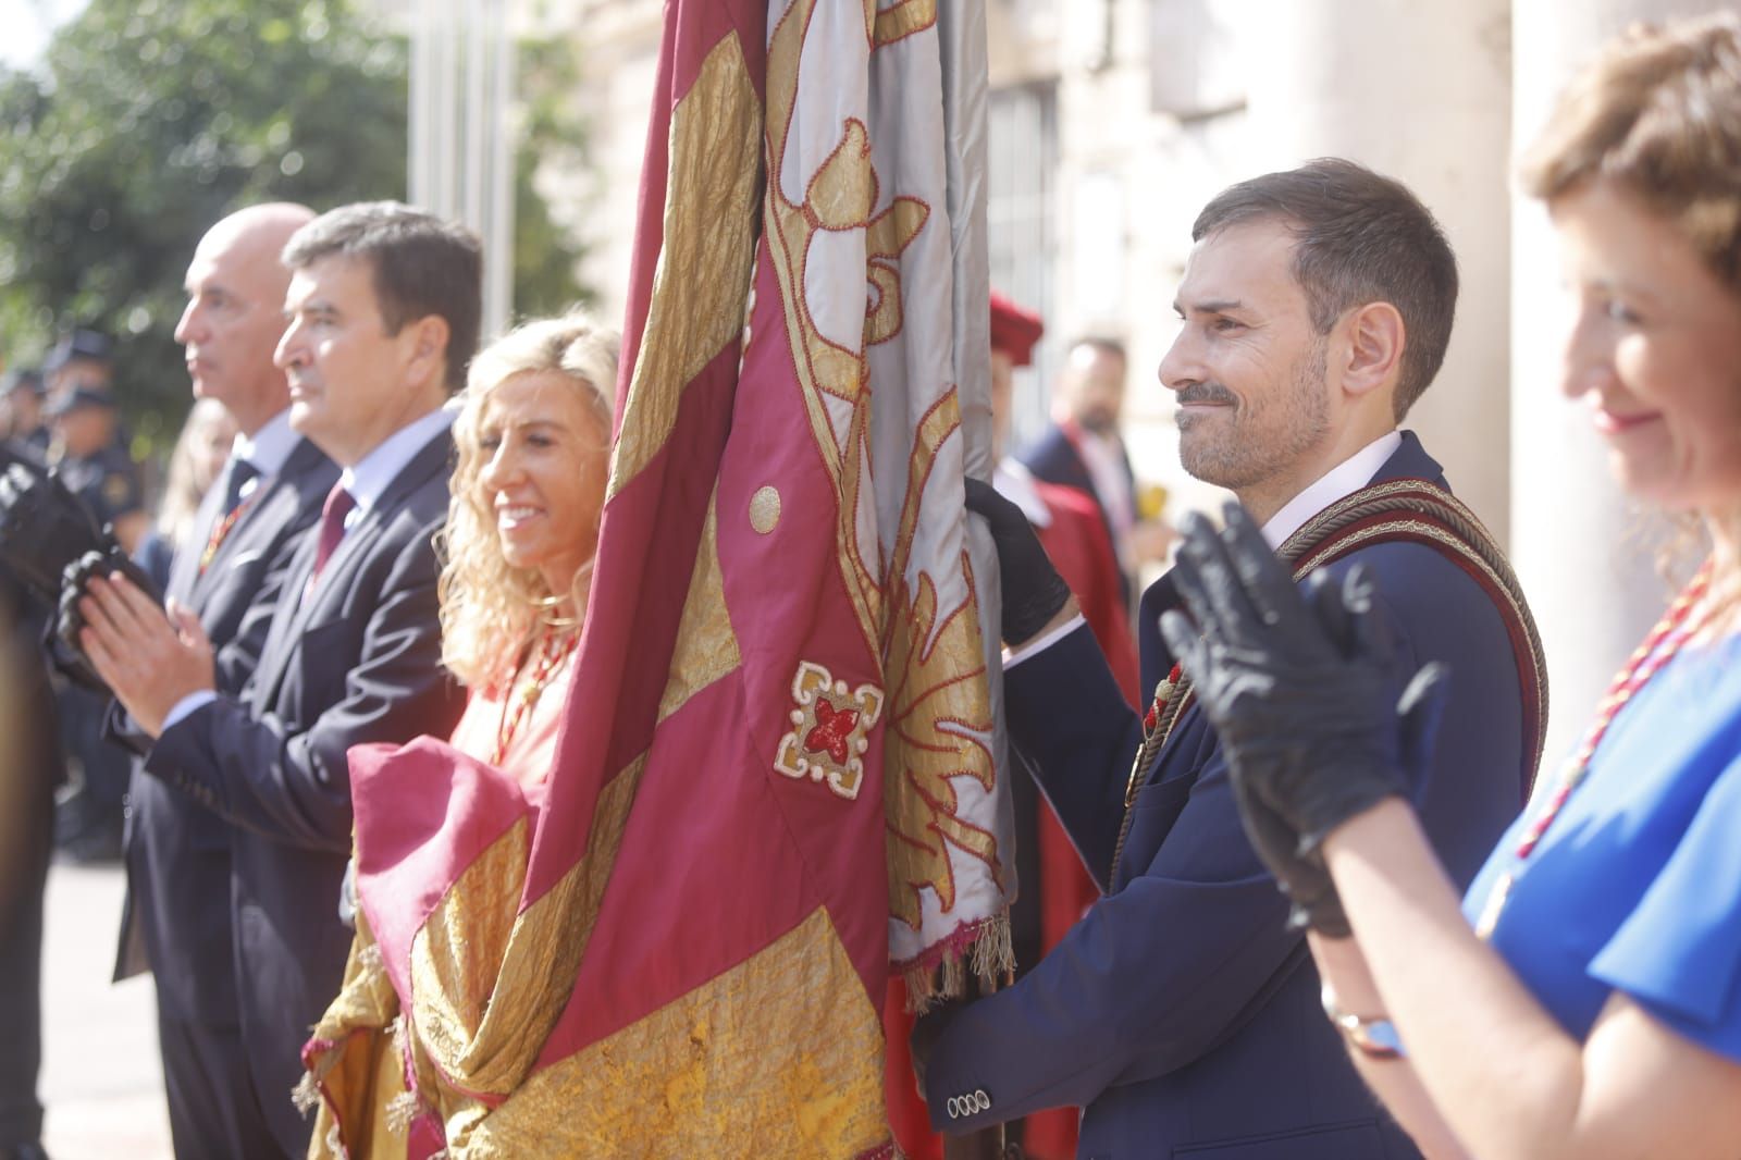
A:
{"label": "bearded man in navy suit holding the flag", "polygon": [[[1443,488],[1396,430],[1443,359],[1457,287],[1414,195],[1349,162],[1313,162],[1224,192],[1193,237],[1184,327],[1160,369],[1179,395],[1186,469],[1231,488],[1271,545],[1328,543],[1342,533],[1321,512],[1388,493],[1375,481]],[[965,1132],[1079,1106],[1083,1157],[1414,1157],[1320,1012],[1304,935],[1241,831],[1208,723],[1182,690],[1165,698],[1149,759],[1132,770],[1144,719],[1024,547],[1025,521],[982,496],[1013,648],[1010,732],[1106,897],[1020,982],[921,1022],[933,1123]],[[1381,538],[1337,568],[1363,561],[1412,658],[1455,672],[1412,791],[1468,880],[1516,813],[1539,719],[1523,676],[1536,653],[1515,651],[1508,631],[1516,601],[1496,599],[1461,559]],[[1165,577],[1144,597],[1147,690],[1172,665],[1156,620],[1175,603]]]}

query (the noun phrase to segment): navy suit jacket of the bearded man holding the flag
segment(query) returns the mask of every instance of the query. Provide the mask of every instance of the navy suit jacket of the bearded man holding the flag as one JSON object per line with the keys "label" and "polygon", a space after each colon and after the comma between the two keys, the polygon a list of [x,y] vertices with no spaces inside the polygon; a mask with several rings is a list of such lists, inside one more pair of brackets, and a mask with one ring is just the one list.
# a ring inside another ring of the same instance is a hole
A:
{"label": "navy suit jacket of the bearded man holding the flag", "polygon": [[[1443,482],[1410,434],[1375,475],[1402,477]],[[1522,691],[1504,624],[1429,547],[1381,543],[1334,570],[1354,561],[1372,570],[1410,660],[1452,669],[1433,761],[1410,789],[1445,866],[1468,883],[1522,796]],[[1172,667],[1158,618],[1173,601],[1165,577],[1142,601],[1149,690]],[[1320,1010],[1304,935],[1287,930],[1287,902],[1240,827],[1201,711],[1186,711],[1147,772],[1109,881],[1142,726],[1093,634],[1079,627],[1010,669],[1005,695],[1012,738],[1107,895],[1020,982],[940,1017],[926,1071],[933,1125],[965,1132],[1078,1106],[1081,1157],[1415,1157]],[[963,1103],[989,1108],[959,1115]]]}

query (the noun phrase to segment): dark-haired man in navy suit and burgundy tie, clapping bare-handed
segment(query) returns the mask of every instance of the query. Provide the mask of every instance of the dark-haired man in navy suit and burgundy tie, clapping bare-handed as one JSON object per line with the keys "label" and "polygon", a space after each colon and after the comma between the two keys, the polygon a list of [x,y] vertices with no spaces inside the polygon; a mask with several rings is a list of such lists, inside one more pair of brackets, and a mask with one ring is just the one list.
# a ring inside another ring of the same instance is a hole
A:
{"label": "dark-haired man in navy suit and burgundy tie, clapping bare-handed", "polygon": [[273,1151],[301,1157],[301,1045],[350,946],[336,911],[346,751],[446,735],[460,716],[440,667],[434,536],[451,470],[444,404],[477,347],[482,263],[468,232],[392,202],[315,218],[284,263],[291,427],[343,472],[286,570],[258,667],[223,693],[198,620],[165,617],[118,575],[89,583],[80,641],[155,738],[146,773],[230,826],[247,1083]]}

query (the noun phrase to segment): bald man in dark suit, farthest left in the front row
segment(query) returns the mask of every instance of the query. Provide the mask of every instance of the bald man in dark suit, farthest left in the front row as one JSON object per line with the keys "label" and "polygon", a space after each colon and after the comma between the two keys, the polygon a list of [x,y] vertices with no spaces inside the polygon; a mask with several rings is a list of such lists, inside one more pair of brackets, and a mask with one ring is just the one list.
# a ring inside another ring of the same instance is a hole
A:
{"label": "bald man in dark suit, farthest left in the front row", "polygon": [[[171,563],[165,597],[198,617],[216,688],[242,691],[279,585],[320,516],[338,467],[291,430],[291,394],[272,357],[291,272],[279,260],[313,212],[254,206],[214,225],[188,265],[176,326],[193,394],[216,399],[240,437]],[[108,733],[138,754],[151,737],[113,707]],[[252,1094],[237,1005],[228,820],[136,765],[127,789],[127,904],[115,977],[151,970],[176,1153],[259,1155],[272,1134]]]}

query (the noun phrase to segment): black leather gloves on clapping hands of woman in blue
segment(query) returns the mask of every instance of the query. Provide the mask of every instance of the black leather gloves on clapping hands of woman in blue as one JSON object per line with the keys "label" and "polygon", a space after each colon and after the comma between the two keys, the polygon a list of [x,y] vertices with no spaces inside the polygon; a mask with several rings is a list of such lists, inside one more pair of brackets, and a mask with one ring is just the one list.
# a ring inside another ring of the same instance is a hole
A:
{"label": "black leather gloves on clapping hands of woman in blue", "polygon": [[1222,533],[1187,519],[1173,573],[1201,634],[1177,611],[1161,634],[1215,725],[1247,834],[1294,921],[1346,935],[1318,846],[1429,758],[1443,669],[1403,688],[1365,570],[1302,594],[1236,505]]}

